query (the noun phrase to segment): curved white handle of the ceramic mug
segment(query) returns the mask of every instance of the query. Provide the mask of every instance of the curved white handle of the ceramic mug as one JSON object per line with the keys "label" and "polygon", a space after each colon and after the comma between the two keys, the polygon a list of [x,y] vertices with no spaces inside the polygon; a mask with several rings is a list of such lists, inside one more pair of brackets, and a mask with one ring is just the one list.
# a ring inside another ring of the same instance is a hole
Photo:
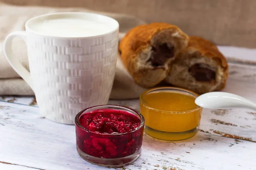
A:
{"label": "curved white handle of the ceramic mug", "polygon": [[3,51],[4,51],[7,61],[12,66],[12,68],[17,72],[17,74],[20,75],[21,78],[23,78],[28,83],[28,85],[33,90],[33,82],[32,82],[32,78],[31,78],[29,71],[19,62],[17,57],[15,57],[12,52],[12,40],[16,36],[21,37],[26,43],[26,32],[25,31],[12,32],[11,34],[9,34],[6,37],[6,39],[3,43]]}

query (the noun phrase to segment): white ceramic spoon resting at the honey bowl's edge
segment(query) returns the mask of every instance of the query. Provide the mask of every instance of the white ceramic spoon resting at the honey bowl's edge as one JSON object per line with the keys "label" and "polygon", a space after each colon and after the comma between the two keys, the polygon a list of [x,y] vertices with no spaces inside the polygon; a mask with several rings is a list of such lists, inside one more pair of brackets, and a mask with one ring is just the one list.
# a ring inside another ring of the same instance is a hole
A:
{"label": "white ceramic spoon resting at the honey bowl's edge", "polygon": [[252,101],[226,92],[202,94],[195,99],[195,104],[209,109],[247,108],[256,111],[256,104]]}

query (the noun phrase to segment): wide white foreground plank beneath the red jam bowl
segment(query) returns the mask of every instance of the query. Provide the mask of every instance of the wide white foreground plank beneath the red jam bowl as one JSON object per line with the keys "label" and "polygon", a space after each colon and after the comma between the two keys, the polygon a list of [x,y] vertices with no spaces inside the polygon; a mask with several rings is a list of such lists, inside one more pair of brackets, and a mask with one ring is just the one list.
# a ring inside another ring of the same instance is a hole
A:
{"label": "wide white foreground plank beneath the red jam bowl", "polygon": [[[43,170],[109,169],[89,164],[79,157],[73,125],[44,119],[36,107],[6,102],[0,105],[0,161]],[[140,158],[116,169],[253,169],[255,153],[253,142],[201,132],[182,142],[163,142],[144,135]]]}

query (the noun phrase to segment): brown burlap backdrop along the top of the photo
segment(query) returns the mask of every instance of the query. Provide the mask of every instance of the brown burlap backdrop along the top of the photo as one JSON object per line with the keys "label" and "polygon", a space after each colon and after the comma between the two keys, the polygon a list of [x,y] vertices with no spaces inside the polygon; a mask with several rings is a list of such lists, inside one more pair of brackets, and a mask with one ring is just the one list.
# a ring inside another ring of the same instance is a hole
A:
{"label": "brown burlap backdrop along the top of the photo", "polygon": [[[1,0],[0,0],[1,1]],[[256,48],[256,0],[2,0],[22,6],[84,7],[168,22],[218,45]]]}

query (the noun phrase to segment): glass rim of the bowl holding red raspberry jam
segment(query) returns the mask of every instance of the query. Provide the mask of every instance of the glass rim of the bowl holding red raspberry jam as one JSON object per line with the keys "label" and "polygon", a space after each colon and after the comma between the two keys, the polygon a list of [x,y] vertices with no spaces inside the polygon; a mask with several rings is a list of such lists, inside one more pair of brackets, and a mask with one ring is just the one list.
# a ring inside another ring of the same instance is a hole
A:
{"label": "glass rim of the bowl holding red raspberry jam", "polygon": [[[135,128],[134,130],[131,130],[129,132],[125,132],[125,133],[116,133],[116,134],[111,134],[111,133],[99,133],[99,132],[91,132],[89,130],[87,130],[85,127],[83,127],[80,122],[79,122],[79,117],[81,116],[82,113],[84,113],[85,111],[89,110],[89,109],[93,109],[93,108],[96,108],[95,110],[97,110],[97,108],[99,109],[103,109],[103,107],[110,107],[110,108],[113,108],[113,109],[125,109],[126,111],[130,111],[130,113],[134,112],[137,114],[137,116],[140,117],[140,126]],[[88,132],[88,133],[92,133],[92,134],[97,134],[97,135],[103,135],[103,136],[120,136],[120,135],[126,135],[126,134],[129,134],[129,133],[133,133],[133,132],[136,132],[138,130],[140,130],[144,125],[145,125],[145,119],[143,117],[143,115],[138,112],[138,111],[135,111],[134,109],[131,109],[131,108],[128,108],[128,107],[125,107],[125,106],[119,106],[119,105],[96,105],[96,106],[92,106],[92,107],[89,107],[89,108],[85,108],[83,110],[81,110],[79,113],[77,113],[76,117],[75,117],[75,124],[77,127],[79,127],[80,129]]]}

